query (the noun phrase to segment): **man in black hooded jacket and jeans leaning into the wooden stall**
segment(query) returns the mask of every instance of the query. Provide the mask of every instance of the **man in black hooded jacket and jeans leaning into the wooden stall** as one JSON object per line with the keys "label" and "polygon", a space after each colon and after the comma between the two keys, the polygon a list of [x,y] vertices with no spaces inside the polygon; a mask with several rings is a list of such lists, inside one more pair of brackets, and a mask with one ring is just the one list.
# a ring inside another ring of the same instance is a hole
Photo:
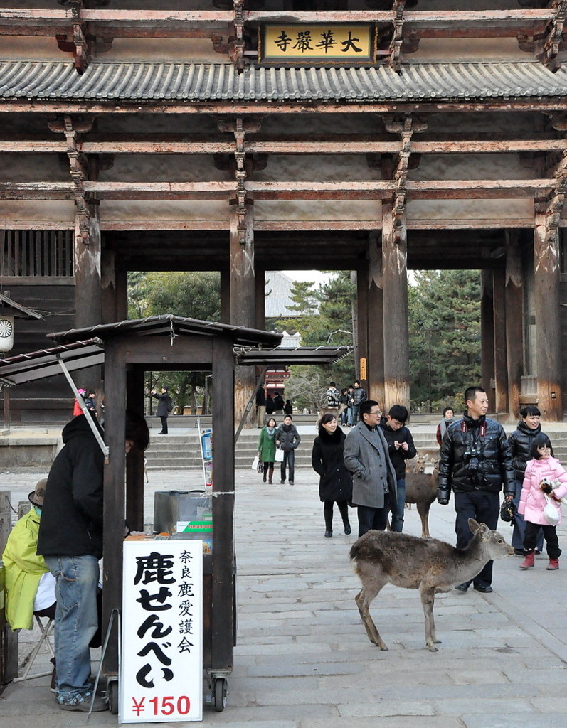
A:
{"label": "man in black hooded jacket and jeans leaning into the wooden stall", "polygon": [[[98,421],[92,422],[101,432]],[[126,413],[126,452],[145,450],[143,417]],[[37,553],[57,580],[55,597],[55,700],[64,711],[87,712],[92,699],[89,644],[98,628],[98,560],[103,554],[104,456],[82,414],[63,428],[65,446],[47,477]],[[106,709],[95,697],[93,711]]]}

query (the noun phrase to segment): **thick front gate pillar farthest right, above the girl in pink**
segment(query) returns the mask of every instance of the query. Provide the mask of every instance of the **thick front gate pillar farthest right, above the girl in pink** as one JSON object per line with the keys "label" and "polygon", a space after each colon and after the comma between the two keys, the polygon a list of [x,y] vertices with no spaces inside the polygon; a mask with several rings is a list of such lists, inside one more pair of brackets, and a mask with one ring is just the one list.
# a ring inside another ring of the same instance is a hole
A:
{"label": "thick front gate pillar farthest right, above the girl in pink", "polygon": [[560,261],[558,229],[546,225],[543,205],[536,204],[533,231],[536,309],[537,393],[542,418],[563,420],[561,389]]}

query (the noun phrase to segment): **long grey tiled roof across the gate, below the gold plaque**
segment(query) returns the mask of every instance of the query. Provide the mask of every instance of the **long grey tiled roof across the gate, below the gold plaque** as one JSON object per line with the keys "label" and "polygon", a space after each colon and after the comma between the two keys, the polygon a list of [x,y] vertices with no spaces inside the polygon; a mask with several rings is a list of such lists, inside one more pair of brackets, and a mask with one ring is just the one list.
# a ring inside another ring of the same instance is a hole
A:
{"label": "long grey tiled roof across the gate, below the gold plaque", "polygon": [[541,63],[407,63],[372,68],[274,68],[227,63],[0,60],[0,98],[176,101],[419,101],[567,95],[567,69]]}

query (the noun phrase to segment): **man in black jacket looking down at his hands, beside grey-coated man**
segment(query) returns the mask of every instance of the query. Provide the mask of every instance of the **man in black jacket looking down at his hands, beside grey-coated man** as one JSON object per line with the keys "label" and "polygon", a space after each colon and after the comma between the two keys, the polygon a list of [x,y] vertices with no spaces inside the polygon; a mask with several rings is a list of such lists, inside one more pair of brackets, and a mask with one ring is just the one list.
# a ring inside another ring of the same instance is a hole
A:
{"label": "man in black jacket looking down at his hands, beside grey-coated man", "polygon": [[380,422],[380,427],[388,443],[388,455],[390,456],[394,470],[396,470],[396,495],[397,502],[391,505],[392,531],[402,531],[404,528],[405,508],[405,462],[414,458],[418,452],[413,444],[412,433],[405,426],[407,422],[407,407],[404,405],[393,405],[388,412],[386,419]]}

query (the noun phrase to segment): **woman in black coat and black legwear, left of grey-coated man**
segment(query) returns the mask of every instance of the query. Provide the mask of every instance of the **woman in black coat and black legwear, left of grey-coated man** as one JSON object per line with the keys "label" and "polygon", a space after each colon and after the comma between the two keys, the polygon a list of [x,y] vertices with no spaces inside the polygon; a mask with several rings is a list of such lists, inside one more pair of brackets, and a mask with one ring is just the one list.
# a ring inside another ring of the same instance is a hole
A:
{"label": "woman in black coat and black legwear, left of grey-coated man", "polygon": [[351,533],[351,524],[348,522],[348,501],[353,494],[353,478],[345,468],[343,451],[345,448],[345,433],[337,425],[334,414],[325,414],[319,422],[319,434],[313,442],[311,464],[313,470],[318,472],[319,497],[324,502],[323,515],[325,518],[325,538],[333,535],[333,503],[337,503],[340,515],[343,518],[345,534]]}

